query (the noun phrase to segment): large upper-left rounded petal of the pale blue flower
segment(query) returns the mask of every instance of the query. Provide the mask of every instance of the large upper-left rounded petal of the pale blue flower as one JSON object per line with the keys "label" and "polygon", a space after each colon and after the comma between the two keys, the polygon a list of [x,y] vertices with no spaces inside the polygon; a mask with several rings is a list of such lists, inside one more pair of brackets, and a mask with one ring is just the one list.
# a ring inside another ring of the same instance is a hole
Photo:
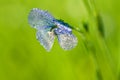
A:
{"label": "large upper-left rounded petal of the pale blue flower", "polygon": [[33,8],[28,15],[28,22],[33,28],[39,29],[39,27],[48,26],[52,27],[54,17],[47,11]]}

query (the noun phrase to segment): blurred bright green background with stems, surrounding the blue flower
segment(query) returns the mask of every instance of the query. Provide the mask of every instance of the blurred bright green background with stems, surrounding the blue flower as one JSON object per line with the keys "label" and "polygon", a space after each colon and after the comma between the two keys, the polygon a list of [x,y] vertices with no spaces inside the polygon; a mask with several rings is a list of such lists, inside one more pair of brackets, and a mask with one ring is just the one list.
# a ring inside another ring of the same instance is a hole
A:
{"label": "blurred bright green background with stems, surrounding the blue flower", "polygon": [[[119,0],[0,0],[0,80],[120,80]],[[78,45],[50,52],[28,24],[32,8],[78,29]],[[80,30],[80,32],[79,32]]]}

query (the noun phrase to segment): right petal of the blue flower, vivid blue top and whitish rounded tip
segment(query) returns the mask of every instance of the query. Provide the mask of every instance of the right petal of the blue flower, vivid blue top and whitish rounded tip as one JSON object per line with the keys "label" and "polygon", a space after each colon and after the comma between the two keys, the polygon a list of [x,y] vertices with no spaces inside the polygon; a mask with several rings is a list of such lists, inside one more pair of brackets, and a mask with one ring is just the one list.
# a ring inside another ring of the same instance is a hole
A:
{"label": "right petal of the blue flower, vivid blue top and whitish rounded tip", "polygon": [[54,29],[55,34],[58,37],[60,46],[64,50],[70,50],[77,45],[77,38],[72,34],[72,29],[67,23],[61,20],[55,22],[57,28]]}

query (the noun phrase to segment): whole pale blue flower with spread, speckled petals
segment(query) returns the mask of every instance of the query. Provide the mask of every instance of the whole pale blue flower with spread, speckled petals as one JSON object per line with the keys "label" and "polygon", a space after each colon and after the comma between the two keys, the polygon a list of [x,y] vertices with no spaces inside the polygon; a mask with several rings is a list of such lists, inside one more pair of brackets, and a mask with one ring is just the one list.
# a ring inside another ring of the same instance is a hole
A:
{"label": "whole pale blue flower with spread, speckled petals", "polygon": [[37,29],[36,37],[47,51],[51,50],[55,36],[64,50],[70,50],[77,45],[78,41],[72,34],[71,26],[55,19],[47,11],[33,8],[29,13],[28,22]]}

